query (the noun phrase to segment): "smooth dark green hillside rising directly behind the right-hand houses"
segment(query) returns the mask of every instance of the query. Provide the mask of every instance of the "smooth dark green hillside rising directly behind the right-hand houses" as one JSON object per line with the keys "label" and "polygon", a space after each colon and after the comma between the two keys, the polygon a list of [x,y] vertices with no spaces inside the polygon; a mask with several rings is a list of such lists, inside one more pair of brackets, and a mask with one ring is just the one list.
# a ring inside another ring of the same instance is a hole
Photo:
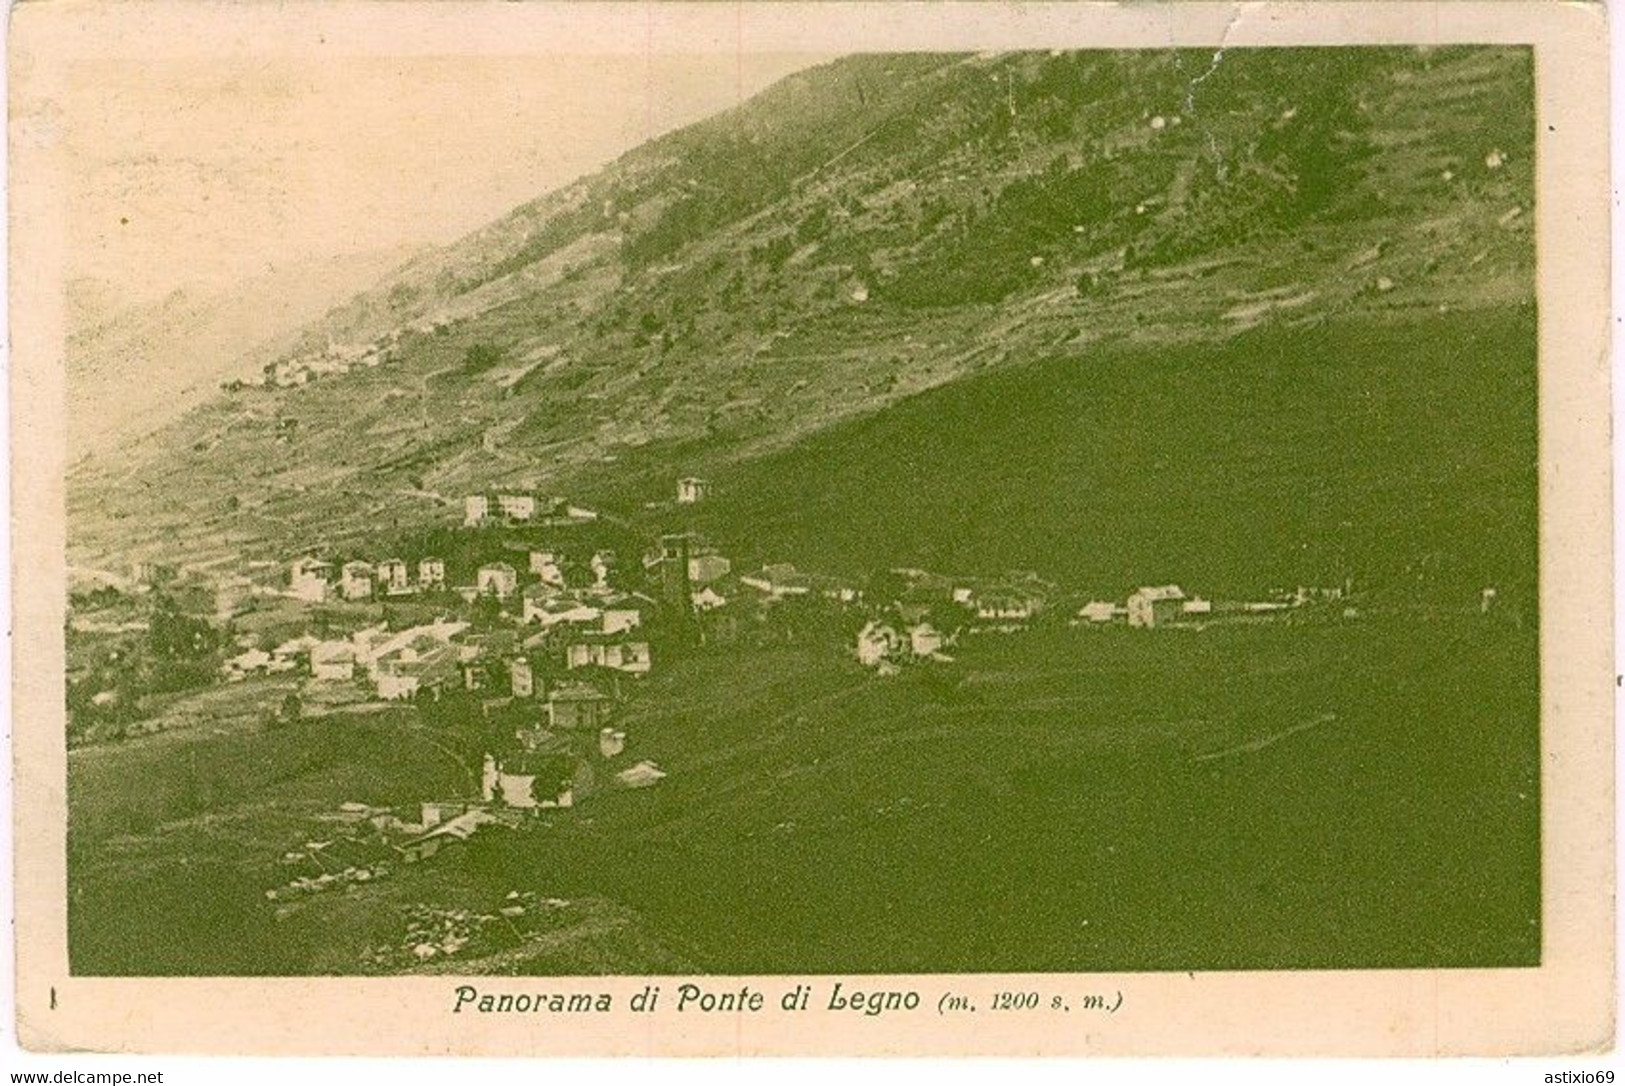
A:
{"label": "smooth dark green hillside rising directly behind the right-hand houses", "polygon": [[847,572],[1532,602],[1534,335],[1506,307],[1108,345],[718,463],[694,520],[741,554]]}

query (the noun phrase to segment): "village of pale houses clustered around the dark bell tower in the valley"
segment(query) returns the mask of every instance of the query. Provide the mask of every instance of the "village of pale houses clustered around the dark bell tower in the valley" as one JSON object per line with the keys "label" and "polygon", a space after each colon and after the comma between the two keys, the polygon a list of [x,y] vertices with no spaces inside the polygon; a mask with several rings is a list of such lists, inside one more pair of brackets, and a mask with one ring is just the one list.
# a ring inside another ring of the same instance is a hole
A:
{"label": "village of pale houses clustered around the dark bell tower in the valley", "polygon": [[[704,480],[678,481],[673,506],[707,501]],[[538,527],[556,530],[549,538],[569,540],[570,528],[600,520],[592,509],[530,491],[471,494],[463,512],[460,532],[499,540],[507,530]],[[288,880],[266,889],[270,899],[286,902],[370,881],[392,865],[431,858],[486,829],[569,816],[601,790],[660,785],[666,771],[639,758],[637,736],[618,727],[618,719],[629,701],[644,696],[645,676],[687,652],[824,639],[853,668],[886,681],[910,668],[952,668],[967,639],[1019,637],[1038,624],[1074,628],[1077,636],[1110,628],[1155,636],[1225,621],[1357,618],[1347,585],[1225,603],[1172,584],[1136,587],[1123,600],[1077,598],[1024,572],[954,577],[892,569],[869,584],[788,563],[739,572],[692,532],[660,535],[629,558],[569,545],[526,548],[522,559],[514,558],[479,563],[453,579],[439,554],[341,563],[297,554],[276,563],[275,572],[262,566],[203,585],[213,592],[211,619],[223,629],[265,605],[312,621],[275,645],[239,636],[224,649],[216,684],[292,680],[292,712],[304,717],[408,706],[432,722],[455,706],[510,725],[504,741],[468,767],[465,795],[436,797],[413,810],[346,803],[335,811],[348,829],[286,854]],[[174,593],[187,580],[172,567],[141,567],[132,584]],[[413,605],[414,615],[432,618],[333,628],[335,610],[375,615],[366,605],[380,602]],[[76,624],[70,618],[73,628],[94,629],[96,619]],[[276,712],[266,706],[266,714]],[[427,946],[439,948],[426,951],[431,956],[455,951],[444,941]]]}

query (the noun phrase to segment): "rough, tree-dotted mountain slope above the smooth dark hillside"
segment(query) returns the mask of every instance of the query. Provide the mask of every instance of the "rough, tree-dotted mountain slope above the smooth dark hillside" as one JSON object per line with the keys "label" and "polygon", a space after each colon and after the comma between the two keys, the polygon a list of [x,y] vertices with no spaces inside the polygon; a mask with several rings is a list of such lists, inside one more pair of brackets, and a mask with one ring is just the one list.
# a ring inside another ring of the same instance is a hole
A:
{"label": "rough, tree-dotted mountain slope above the smooth dark hillside", "polygon": [[[445,522],[450,499],[497,483],[637,509],[682,471],[744,480],[988,369],[1328,322],[1409,328],[1415,348],[1441,309],[1532,301],[1528,50],[1209,60],[853,57],[798,73],[414,260],[283,359],[348,343],[388,364],[219,397],[81,465],[72,546],[281,556]],[[1362,379],[1402,395],[1404,374]],[[967,424],[960,441],[977,439]]]}

